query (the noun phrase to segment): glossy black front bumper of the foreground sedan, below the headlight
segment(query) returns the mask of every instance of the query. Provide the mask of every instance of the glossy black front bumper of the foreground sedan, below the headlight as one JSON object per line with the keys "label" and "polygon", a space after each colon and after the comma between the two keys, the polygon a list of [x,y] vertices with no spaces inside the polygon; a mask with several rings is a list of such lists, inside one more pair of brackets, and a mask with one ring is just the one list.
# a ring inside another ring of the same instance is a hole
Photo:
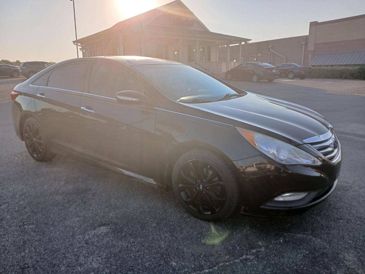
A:
{"label": "glossy black front bumper of the foreground sedan, below the headlight", "polygon": [[[328,197],[337,184],[341,157],[319,166],[282,165],[265,155],[233,162],[241,182],[241,213],[290,216],[302,213]],[[284,193],[308,192],[297,201],[275,201]]]}

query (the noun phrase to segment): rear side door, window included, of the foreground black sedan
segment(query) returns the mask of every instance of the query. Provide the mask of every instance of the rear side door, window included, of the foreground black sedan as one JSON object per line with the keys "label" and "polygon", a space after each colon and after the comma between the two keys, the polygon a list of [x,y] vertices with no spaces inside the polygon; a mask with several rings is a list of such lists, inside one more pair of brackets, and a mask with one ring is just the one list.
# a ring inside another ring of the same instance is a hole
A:
{"label": "rear side door, window included, of the foreground black sedan", "polygon": [[78,114],[88,65],[87,61],[69,63],[47,72],[43,82],[43,76],[34,81],[39,84],[35,92],[37,118],[47,137],[71,151],[80,150],[82,142]]}

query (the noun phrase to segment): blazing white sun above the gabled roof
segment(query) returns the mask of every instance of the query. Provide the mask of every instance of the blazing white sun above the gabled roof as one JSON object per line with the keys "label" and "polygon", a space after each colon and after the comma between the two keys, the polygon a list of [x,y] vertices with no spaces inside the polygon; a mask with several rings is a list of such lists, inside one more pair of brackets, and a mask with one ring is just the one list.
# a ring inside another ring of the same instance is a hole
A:
{"label": "blazing white sun above the gabled roof", "polygon": [[155,0],[115,0],[120,15],[125,19],[156,8]]}

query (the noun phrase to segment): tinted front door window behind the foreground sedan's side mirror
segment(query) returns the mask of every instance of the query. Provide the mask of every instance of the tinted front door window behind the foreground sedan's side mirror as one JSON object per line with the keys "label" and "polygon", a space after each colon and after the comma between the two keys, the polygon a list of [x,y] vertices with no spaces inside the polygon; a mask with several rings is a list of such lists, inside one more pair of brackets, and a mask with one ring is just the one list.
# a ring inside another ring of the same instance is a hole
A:
{"label": "tinted front door window behind the foreground sedan's side mirror", "polygon": [[115,98],[122,90],[143,93],[143,86],[127,72],[103,64],[93,64],[91,68],[89,93]]}

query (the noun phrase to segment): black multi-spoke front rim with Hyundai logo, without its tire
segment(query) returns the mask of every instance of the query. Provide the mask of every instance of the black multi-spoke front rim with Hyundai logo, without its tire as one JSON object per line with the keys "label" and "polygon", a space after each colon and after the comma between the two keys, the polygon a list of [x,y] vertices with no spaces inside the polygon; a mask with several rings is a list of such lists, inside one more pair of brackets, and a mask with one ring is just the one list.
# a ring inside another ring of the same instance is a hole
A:
{"label": "black multi-spoke front rim with Hyundai logo, without its tire", "polygon": [[218,213],[226,203],[226,184],[222,176],[203,160],[183,164],[177,177],[177,188],[185,204],[199,214]]}

